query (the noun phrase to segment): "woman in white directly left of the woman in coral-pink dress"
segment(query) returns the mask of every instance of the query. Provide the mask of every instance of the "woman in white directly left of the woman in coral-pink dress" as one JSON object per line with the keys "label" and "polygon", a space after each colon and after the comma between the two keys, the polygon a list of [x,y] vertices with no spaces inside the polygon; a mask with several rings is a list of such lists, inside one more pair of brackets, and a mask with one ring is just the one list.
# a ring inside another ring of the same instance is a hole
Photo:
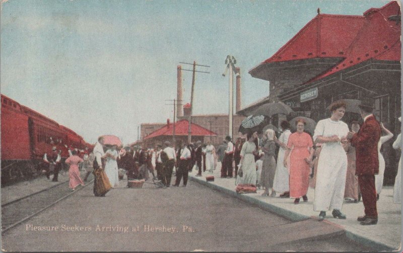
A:
{"label": "woman in white directly left of the woman in coral-pink dress", "polygon": [[[288,138],[291,135],[290,131],[290,123],[286,120],[281,122],[281,128],[283,133],[280,135],[279,140],[276,142],[280,146],[279,154],[277,156],[277,167],[276,173],[274,175],[273,189],[277,193],[282,193],[280,195],[281,198],[289,198],[290,197],[290,174],[288,173],[288,168],[284,166],[284,154],[287,150]],[[280,162],[279,162],[280,161]]]}

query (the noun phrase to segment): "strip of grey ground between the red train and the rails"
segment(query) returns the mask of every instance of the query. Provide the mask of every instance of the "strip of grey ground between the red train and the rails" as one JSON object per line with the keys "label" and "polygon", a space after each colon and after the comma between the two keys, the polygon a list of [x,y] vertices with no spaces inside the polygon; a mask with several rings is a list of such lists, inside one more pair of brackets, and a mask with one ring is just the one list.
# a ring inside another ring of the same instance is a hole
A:
{"label": "strip of grey ground between the red train and the rails", "polygon": [[[86,171],[80,171],[81,178],[84,178]],[[2,187],[2,206],[10,202],[19,200],[29,195],[44,191],[47,188],[69,181],[69,172],[59,172],[58,181],[52,181],[53,175],[50,175],[50,179],[47,179],[45,175],[41,175],[37,178],[28,181],[17,182],[13,185]],[[92,174],[88,177],[88,180],[92,180]],[[86,182],[85,182],[86,183]]]}

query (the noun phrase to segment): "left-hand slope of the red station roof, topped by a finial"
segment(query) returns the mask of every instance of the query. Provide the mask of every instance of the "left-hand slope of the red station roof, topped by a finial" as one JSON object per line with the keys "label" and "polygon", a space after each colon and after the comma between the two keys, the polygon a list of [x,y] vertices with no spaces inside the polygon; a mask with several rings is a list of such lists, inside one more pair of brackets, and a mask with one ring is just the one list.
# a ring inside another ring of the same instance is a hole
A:
{"label": "left-hand slope of the red station roof, topped by a finial", "polygon": [[363,22],[363,16],[319,14],[263,64],[317,57],[343,57]]}

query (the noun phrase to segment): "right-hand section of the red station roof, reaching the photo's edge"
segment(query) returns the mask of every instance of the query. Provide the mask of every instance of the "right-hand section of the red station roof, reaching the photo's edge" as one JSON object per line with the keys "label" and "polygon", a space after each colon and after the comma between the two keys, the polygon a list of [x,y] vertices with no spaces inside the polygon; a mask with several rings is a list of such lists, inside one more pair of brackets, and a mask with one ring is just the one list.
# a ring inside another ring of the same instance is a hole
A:
{"label": "right-hand section of the red station roof, reaching the photo's edge", "polygon": [[389,21],[388,17],[397,15],[400,7],[393,1],[381,8],[371,8],[364,13],[365,22],[347,49],[345,59],[307,83],[322,79],[338,71],[347,69],[365,60],[400,60],[400,25]]}

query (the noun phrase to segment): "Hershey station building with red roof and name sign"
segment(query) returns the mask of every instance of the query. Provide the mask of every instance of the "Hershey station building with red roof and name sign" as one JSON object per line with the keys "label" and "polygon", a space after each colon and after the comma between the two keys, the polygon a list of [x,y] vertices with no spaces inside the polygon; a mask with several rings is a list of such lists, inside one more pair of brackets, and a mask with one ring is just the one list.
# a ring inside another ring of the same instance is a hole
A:
{"label": "Hershey station building with red roof and name sign", "polygon": [[[318,14],[273,56],[249,71],[270,82],[265,102],[283,101],[315,121],[338,99],[375,100],[374,114],[395,136],[401,124],[400,7],[393,1],[362,16]],[[239,111],[245,114],[259,103]],[[293,115],[295,116],[295,115]],[[284,117],[285,118],[285,117]],[[274,118],[280,124],[283,118]],[[362,119],[346,113],[343,120]],[[399,154],[385,143],[385,181],[392,183]]]}

